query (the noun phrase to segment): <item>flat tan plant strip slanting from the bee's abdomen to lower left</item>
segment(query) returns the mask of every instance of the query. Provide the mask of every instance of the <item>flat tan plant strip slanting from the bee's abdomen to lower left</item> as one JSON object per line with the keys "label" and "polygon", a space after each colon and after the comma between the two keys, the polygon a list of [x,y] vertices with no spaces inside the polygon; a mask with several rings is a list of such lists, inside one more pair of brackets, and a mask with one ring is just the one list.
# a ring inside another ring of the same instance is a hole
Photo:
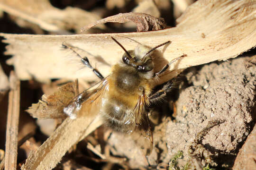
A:
{"label": "flat tan plant strip slanting from the bee's abdomen to lower left", "polygon": [[102,122],[99,116],[65,119],[36,152],[29,154],[21,170],[51,170],[73,144],[88,136]]}

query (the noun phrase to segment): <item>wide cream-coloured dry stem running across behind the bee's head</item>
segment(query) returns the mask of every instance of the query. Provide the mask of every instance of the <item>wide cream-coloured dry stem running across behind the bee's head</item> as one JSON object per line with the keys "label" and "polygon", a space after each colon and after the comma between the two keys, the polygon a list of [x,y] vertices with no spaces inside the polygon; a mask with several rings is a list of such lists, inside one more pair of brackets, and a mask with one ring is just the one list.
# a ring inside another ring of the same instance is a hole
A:
{"label": "wide cream-coloured dry stem running across behind the bee's head", "polygon": [[[198,0],[189,6],[178,25],[159,31],[122,34],[83,35],[18,35],[0,34],[9,43],[5,54],[13,55],[7,62],[14,65],[20,79],[48,80],[49,78],[83,78],[97,80],[89,68],[79,70],[80,60],[67,51],[62,43],[102,56],[111,65],[116,64],[123,50],[111,39],[116,38],[127,50],[133,50],[137,42],[154,47],[166,41],[168,46],[158,49],[154,60],[160,70],[168,61],[183,54],[187,57],[174,63],[170,70],[188,68],[215,60],[235,58],[256,46],[256,1],[255,0]],[[202,33],[205,36],[202,36]],[[131,41],[128,38],[136,40]],[[164,49],[164,50],[162,50]],[[163,54],[163,57],[161,55]],[[91,65],[107,76],[109,66],[87,55]],[[72,62],[71,62],[72,61]],[[75,63],[77,61],[77,63]],[[44,70],[44,71],[41,71]],[[176,76],[166,74],[159,84]]]}

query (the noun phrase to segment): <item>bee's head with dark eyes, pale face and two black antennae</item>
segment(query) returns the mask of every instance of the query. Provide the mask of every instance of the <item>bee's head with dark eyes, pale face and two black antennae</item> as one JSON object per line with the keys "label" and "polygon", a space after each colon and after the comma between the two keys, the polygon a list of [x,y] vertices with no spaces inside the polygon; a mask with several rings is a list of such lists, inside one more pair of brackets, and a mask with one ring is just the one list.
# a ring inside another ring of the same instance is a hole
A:
{"label": "bee's head with dark eyes, pale face and two black antennae", "polygon": [[168,42],[162,43],[160,45],[155,46],[152,49],[148,49],[147,47],[139,44],[135,50],[129,50],[127,51],[116,39],[111,37],[124,51],[123,54],[123,62],[131,66],[133,68],[136,68],[139,72],[149,72],[154,68],[153,60],[151,59],[151,53],[157,49],[158,47],[161,47]]}

